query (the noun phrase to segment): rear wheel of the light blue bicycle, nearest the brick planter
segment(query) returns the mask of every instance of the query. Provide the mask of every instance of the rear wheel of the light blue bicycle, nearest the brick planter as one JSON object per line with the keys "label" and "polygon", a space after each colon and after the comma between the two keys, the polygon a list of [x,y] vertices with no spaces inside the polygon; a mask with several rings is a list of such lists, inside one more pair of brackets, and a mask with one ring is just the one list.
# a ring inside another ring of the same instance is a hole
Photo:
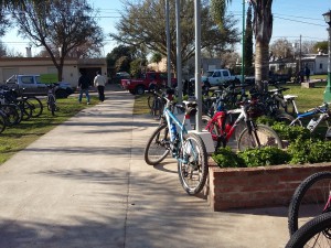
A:
{"label": "rear wheel of the light blue bicycle, nearest the brick planter", "polygon": [[195,133],[185,136],[179,151],[178,173],[184,191],[195,195],[204,187],[209,173],[207,154],[202,139]]}

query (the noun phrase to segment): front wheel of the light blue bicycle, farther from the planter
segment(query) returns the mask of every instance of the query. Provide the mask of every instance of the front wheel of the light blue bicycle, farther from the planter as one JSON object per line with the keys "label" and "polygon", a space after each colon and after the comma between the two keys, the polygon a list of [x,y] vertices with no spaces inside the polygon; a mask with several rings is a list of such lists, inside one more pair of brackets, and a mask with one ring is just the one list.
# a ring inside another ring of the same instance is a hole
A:
{"label": "front wheel of the light blue bicycle, farther from the planter", "polygon": [[162,162],[170,151],[170,137],[167,123],[163,123],[154,130],[147,141],[143,158],[147,164],[156,165]]}

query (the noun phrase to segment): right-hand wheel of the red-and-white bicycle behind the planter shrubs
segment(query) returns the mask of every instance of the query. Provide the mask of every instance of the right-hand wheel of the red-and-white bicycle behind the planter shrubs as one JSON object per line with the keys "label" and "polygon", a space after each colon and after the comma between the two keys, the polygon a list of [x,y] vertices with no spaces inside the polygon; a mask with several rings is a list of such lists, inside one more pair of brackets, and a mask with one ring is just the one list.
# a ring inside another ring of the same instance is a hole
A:
{"label": "right-hand wheel of the red-and-white bicycle behind the planter shrubs", "polygon": [[255,130],[245,128],[238,139],[238,150],[245,151],[249,148],[277,147],[282,149],[278,134],[268,126],[257,125]]}

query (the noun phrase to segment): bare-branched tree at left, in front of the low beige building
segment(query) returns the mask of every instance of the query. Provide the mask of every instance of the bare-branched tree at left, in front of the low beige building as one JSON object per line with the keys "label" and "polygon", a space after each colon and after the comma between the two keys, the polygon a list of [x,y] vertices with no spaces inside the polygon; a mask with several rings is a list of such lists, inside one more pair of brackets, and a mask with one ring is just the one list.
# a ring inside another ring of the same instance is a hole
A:
{"label": "bare-branched tree at left, in front of the low beige building", "polygon": [[35,46],[43,46],[62,80],[64,61],[88,44],[103,46],[102,29],[86,0],[21,0],[20,11],[12,8],[19,33]]}

